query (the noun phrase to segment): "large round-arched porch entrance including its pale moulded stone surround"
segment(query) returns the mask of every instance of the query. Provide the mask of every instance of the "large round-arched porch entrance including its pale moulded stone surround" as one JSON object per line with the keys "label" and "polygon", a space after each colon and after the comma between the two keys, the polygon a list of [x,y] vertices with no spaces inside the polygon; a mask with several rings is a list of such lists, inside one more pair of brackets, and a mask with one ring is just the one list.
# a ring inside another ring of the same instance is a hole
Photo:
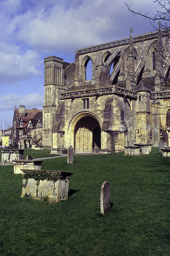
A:
{"label": "large round-arched porch entrance including its pale moulded stone surround", "polygon": [[[68,127],[69,144],[74,145],[74,152],[93,152],[98,146],[101,147],[101,126],[99,118],[91,112],[74,116]],[[99,134],[100,138],[96,139]]]}

